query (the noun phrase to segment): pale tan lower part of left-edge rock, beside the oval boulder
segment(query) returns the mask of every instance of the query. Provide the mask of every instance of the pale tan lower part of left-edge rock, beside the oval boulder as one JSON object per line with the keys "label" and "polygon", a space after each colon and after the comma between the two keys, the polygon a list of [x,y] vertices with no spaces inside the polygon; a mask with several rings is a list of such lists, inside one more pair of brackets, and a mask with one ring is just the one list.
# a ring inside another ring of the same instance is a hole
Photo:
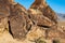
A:
{"label": "pale tan lower part of left-edge rock, beside the oval boulder", "polygon": [[8,17],[0,19],[0,33],[3,33],[5,30],[9,30]]}

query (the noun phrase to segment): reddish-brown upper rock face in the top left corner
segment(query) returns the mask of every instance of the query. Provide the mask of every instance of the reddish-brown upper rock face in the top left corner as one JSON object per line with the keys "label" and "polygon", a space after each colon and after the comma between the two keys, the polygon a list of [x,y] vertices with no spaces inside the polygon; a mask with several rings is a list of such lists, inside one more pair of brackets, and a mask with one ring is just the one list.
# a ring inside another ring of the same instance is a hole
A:
{"label": "reddish-brown upper rock face in the top left corner", "polygon": [[10,6],[6,0],[0,0],[0,18],[10,15]]}

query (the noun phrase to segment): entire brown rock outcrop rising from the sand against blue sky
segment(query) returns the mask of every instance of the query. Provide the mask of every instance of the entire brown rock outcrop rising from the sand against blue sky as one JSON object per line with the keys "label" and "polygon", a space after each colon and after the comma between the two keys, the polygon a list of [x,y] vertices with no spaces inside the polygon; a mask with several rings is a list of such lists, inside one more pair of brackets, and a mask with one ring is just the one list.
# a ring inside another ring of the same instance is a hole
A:
{"label": "entire brown rock outcrop rising from the sand against blue sky", "polygon": [[58,27],[56,19],[46,0],[35,0],[29,10],[13,0],[0,0],[0,33],[6,30],[13,39],[36,42],[39,38],[65,39],[65,29]]}

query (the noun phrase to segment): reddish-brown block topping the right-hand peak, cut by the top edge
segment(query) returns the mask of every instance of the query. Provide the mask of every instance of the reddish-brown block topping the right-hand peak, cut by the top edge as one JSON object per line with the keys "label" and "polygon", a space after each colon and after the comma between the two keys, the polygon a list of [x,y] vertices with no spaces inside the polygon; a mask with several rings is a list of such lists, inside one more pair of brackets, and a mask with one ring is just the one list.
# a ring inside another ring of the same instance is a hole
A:
{"label": "reddish-brown block topping the right-hand peak, cut by the top edge", "polygon": [[40,9],[40,8],[46,8],[47,5],[48,4],[46,3],[46,0],[35,0],[30,9]]}

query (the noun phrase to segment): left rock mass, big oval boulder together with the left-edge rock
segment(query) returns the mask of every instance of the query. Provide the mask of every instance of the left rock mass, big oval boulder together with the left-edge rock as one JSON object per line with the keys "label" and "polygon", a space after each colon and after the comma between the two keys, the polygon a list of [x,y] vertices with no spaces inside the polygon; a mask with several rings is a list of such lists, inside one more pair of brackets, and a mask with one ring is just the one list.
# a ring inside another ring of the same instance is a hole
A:
{"label": "left rock mass, big oval boulder together with the left-edge rock", "polygon": [[[24,39],[30,29],[30,19],[26,9],[13,0],[0,0],[0,31],[8,31],[15,39]],[[2,5],[4,4],[4,5]],[[9,24],[9,26],[8,26]]]}

